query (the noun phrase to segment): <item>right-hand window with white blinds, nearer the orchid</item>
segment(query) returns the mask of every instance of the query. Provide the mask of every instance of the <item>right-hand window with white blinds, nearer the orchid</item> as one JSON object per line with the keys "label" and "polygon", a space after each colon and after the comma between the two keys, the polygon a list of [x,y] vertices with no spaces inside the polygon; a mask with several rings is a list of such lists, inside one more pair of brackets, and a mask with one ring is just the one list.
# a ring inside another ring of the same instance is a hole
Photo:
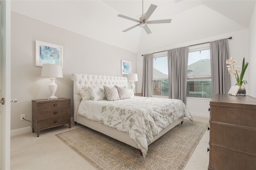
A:
{"label": "right-hand window with white blinds, nearer the orchid", "polygon": [[211,98],[212,78],[210,47],[190,49],[188,53],[187,97]]}

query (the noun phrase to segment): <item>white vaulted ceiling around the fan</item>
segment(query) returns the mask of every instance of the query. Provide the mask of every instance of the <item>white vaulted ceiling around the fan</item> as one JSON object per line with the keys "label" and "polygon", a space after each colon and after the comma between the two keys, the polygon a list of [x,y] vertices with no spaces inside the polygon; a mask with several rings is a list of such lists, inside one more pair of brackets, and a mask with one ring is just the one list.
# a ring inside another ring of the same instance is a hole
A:
{"label": "white vaulted ceiling around the fan", "polygon": [[144,0],[158,6],[149,20],[172,19],[148,25],[151,34],[136,27],[142,0],[12,0],[11,10],[81,35],[133,51],[146,51],[247,29],[255,0]]}

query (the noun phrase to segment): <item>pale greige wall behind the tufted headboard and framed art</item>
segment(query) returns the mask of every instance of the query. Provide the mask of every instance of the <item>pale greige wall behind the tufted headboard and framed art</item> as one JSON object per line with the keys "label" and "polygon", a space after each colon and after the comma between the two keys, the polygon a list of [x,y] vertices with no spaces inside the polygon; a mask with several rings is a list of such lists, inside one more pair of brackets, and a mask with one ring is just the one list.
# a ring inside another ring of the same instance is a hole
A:
{"label": "pale greige wall behind the tufted headboard and framed art", "polygon": [[11,130],[30,127],[32,123],[20,121],[20,115],[26,114],[31,121],[31,100],[50,96],[50,79],[40,77],[42,67],[35,66],[36,40],[63,46],[63,78],[56,80],[57,97],[73,98],[73,72],[124,76],[122,59],[131,61],[136,72],[136,53],[12,12],[11,98],[18,102],[11,105]]}

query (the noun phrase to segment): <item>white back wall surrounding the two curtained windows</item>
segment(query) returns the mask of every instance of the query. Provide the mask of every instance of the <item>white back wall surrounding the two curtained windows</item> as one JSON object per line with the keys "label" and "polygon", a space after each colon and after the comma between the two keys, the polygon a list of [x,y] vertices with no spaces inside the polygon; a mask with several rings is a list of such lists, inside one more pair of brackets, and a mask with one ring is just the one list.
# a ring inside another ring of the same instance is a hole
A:
{"label": "white back wall surrounding the two curtained windows", "polygon": [[[255,29],[254,29],[254,32],[255,32]],[[141,56],[142,54],[154,53],[158,51],[164,51],[168,49],[174,49],[174,48],[194,45],[198,43],[205,43],[205,42],[215,41],[218,39],[224,39],[228,37],[232,37],[231,40],[228,40],[230,57],[235,57],[236,60],[238,61],[238,64],[242,66],[242,60],[244,57],[246,61],[249,61],[248,29],[227,33],[223,35],[208,37],[206,39],[198,39],[195,41],[184,42],[182,44],[177,44],[170,47],[162,47],[161,49],[150,49],[148,51],[138,52],[137,53],[137,74],[138,74],[139,81],[137,82],[136,91],[141,92],[141,89],[142,89],[142,65],[143,65],[143,57]],[[246,72],[244,76],[244,80],[249,81],[249,71]],[[231,84],[236,84],[235,78],[233,76],[231,76]],[[255,88],[255,83],[254,84],[248,83],[247,85],[245,85],[245,87],[248,89],[250,89],[249,87],[252,87],[252,86]],[[210,100],[204,100],[204,99],[194,99],[194,100],[188,99],[186,105],[188,106],[188,109],[190,110],[192,115],[209,117],[209,111],[208,111],[209,102]]]}

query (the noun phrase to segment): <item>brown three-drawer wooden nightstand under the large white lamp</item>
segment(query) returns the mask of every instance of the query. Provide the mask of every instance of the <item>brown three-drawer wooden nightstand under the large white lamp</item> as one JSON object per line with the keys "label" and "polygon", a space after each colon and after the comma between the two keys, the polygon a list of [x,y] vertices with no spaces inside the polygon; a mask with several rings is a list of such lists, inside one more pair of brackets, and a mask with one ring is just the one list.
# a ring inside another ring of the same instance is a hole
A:
{"label": "brown three-drawer wooden nightstand under the large white lamp", "polygon": [[71,128],[71,100],[58,98],[56,100],[32,100],[32,132],[68,124]]}

